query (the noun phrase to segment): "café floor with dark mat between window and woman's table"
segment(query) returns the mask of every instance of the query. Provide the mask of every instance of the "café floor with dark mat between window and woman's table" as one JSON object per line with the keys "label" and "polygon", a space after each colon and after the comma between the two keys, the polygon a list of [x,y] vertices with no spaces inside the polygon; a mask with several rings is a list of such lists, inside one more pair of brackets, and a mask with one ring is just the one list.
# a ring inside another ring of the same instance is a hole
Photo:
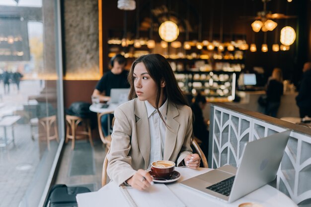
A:
{"label": "caf\u00e9 floor with dark mat between window and woman's table", "polygon": [[70,187],[85,186],[91,191],[99,190],[106,155],[100,139],[94,141],[94,147],[84,140],[76,141],[74,150],[71,149],[71,141],[64,147],[56,184],[66,184]]}

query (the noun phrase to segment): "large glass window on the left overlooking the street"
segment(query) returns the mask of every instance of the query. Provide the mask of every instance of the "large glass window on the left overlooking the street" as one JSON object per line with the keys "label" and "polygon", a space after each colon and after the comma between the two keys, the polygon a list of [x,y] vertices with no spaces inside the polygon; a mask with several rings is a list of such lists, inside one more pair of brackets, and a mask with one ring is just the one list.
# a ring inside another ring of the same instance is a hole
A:
{"label": "large glass window on the left overlooking the street", "polygon": [[59,0],[0,1],[0,207],[42,206],[64,138]]}

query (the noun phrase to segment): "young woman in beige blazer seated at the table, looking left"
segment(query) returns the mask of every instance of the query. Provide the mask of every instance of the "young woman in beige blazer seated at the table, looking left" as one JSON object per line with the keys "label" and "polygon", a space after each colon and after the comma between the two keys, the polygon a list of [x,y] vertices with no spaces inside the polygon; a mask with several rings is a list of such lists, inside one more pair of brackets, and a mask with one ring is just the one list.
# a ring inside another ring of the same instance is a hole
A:
{"label": "young woman in beige blazer seated at the table, looking left", "polygon": [[128,80],[130,101],[114,112],[110,179],[145,190],[152,183],[147,169],[156,160],[198,168],[200,157],[190,147],[192,111],[166,59],[158,54],[138,58]]}

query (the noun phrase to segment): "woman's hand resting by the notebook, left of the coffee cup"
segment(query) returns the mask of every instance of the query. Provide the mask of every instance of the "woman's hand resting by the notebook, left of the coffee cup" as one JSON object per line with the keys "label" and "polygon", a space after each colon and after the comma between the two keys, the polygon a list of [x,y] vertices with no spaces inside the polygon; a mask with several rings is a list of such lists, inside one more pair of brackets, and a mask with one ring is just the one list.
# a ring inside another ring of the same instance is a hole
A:
{"label": "woman's hand resting by the notebook, left of the coffee cup", "polygon": [[140,191],[146,190],[153,185],[153,178],[151,175],[143,169],[139,169],[135,175],[129,178],[126,182],[131,185],[133,188]]}

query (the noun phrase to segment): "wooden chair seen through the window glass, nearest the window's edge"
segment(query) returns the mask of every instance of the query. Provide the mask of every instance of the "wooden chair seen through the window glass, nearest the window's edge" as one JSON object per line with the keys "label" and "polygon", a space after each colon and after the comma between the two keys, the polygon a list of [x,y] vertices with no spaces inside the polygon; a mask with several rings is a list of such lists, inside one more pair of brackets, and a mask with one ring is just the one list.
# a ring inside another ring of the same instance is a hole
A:
{"label": "wooden chair seen through the window glass, nearest the window's edge", "polygon": [[[56,139],[57,142],[60,142],[57,132],[56,115],[38,119],[38,127],[40,126],[43,127],[45,133],[39,133],[38,138],[46,137],[48,150],[50,150],[50,140]],[[51,134],[51,129],[54,130],[54,135]]]}

